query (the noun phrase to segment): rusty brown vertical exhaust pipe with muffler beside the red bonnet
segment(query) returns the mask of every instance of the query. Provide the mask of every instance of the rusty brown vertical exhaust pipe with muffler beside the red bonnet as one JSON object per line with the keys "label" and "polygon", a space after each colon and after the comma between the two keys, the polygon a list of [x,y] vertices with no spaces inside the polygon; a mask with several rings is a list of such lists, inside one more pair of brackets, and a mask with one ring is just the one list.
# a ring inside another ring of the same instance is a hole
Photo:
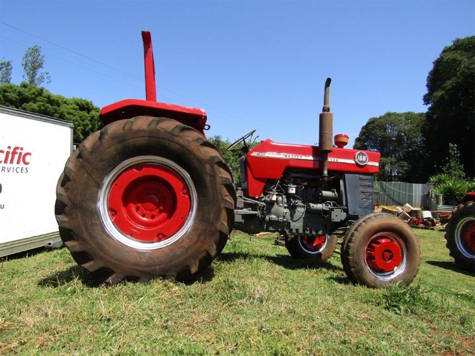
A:
{"label": "rusty brown vertical exhaust pipe with muffler beside the red bonnet", "polygon": [[323,169],[321,183],[328,180],[328,154],[333,151],[333,114],[330,113],[330,83],[331,79],[326,78],[325,92],[323,94],[323,108],[320,114],[318,149],[322,154]]}

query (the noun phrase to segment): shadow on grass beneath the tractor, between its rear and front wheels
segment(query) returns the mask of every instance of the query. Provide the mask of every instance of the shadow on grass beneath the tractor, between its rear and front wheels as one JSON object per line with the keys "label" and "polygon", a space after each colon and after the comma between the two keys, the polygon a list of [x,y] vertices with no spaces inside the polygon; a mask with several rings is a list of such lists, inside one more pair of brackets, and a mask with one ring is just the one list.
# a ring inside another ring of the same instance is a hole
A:
{"label": "shadow on grass beneath the tractor, between its rear and front wheels", "polygon": [[327,261],[315,261],[314,259],[301,259],[297,260],[292,258],[289,255],[276,255],[276,256],[266,256],[266,255],[251,255],[250,253],[242,253],[242,252],[222,252],[218,260],[223,262],[232,262],[235,260],[246,260],[249,258],[258,258],[263,259],[283,268],[289,270],[299,270],[299,269],[319,269],[319,268],[326,268],[329,271],[342,271],[341,266],[335,266]]}

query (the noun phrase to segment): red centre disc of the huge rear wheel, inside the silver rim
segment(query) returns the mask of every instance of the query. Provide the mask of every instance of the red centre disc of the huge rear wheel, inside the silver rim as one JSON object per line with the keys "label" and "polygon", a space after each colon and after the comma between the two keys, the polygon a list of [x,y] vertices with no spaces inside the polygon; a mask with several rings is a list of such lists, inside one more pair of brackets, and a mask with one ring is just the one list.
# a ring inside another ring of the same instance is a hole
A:
{"label": "red centre disc of the huge rear wheel, inside the silver rim", "polygon": [[161,164],[128,167],[114,180],[108,195],[108,213],[115,227],[140,242],[172,237],[190,211],[186,183]]}

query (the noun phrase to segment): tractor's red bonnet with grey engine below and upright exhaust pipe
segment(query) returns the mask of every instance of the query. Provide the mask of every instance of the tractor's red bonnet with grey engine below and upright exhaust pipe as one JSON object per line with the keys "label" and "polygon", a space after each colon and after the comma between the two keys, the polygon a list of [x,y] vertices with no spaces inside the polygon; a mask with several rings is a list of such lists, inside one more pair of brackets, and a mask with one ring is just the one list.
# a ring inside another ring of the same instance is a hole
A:
{"label": "tractor's red bonnet with grey engine below and upright exhaust pipe", "polygon": [[373,211],[373,176],[379,154],[345,149],[335,136],[325,83],[319,145],[261,141],[241,158],[234,227],[247,233],[328,236]]}

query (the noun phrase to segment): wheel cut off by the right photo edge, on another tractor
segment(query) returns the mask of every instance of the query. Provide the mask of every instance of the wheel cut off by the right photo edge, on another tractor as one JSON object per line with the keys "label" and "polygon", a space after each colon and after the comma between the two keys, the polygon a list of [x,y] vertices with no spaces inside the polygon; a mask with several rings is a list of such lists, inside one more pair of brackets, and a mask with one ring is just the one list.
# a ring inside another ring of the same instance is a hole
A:
{"label": "wheel cut off by the right photo edge, on another tractor", "polygon": [[446,226],[445,239],[450,256],[462,269],[475,272],[475,204],[460,205]]}

